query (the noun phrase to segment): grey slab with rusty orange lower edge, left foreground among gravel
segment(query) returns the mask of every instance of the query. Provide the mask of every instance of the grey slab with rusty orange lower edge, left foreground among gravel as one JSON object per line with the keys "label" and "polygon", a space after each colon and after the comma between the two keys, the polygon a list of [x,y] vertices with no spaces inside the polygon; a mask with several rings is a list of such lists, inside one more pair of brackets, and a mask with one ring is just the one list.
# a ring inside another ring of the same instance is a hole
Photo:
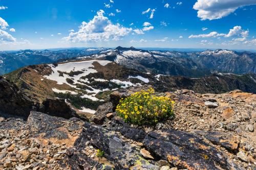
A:
{"label": "grey slab with rusty orange lower edge, left foreground among gravel", "polygon": [[52,141],[73,145],[81,132],[83,123],[77,118],[65,119],[62,117],[50,116],[45,113],[31,111],[26,130],[31,137],[36,137],[43,142]]}

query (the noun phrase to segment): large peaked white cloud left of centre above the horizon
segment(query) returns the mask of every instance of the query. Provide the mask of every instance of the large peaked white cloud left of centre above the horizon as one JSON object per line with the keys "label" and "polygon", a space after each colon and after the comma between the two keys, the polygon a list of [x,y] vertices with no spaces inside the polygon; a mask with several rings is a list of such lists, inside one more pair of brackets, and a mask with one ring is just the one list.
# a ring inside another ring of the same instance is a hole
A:
{"label": "large peaked white cloud left of centre above the horizon", "polygon": [[99,10],[88,23],[82,22],[78,32],[71,32],[68,37],[62,39],[71,42],[119,40],[132,31],[131,28],[122,27],[119,23],[114,25],[103,14],[104,11]]}

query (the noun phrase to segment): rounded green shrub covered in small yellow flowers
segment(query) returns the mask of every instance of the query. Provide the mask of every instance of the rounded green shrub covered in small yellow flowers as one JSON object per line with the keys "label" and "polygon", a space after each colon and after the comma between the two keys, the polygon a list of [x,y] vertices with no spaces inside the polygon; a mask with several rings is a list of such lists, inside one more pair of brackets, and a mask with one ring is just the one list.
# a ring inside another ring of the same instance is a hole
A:
{"label": "rounded green shrub covered in small yellow flowers", "polygon": [[125,122],[135,125],[156,125],[173,116],[174,101],[156,96],[155,90],[141,90],[121,99],[116,112]]}

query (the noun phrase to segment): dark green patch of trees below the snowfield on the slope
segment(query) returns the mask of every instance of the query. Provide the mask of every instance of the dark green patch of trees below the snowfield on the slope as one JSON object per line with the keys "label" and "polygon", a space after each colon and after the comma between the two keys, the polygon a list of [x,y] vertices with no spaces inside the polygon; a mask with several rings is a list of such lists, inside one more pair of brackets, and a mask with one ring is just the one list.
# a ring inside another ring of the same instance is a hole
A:
{"label": "dark green patch of trees below the snowfield on the slope", "polygon": [[89,108],[96,110],[99,105],[102,105],[103,101],[92,101],[91,99],[81,98],[79,94],[71,94],[71,93],[56,93],[54,95],[60,99],[67,99],[74,107],[77,109],[81,109],[81,107]]}

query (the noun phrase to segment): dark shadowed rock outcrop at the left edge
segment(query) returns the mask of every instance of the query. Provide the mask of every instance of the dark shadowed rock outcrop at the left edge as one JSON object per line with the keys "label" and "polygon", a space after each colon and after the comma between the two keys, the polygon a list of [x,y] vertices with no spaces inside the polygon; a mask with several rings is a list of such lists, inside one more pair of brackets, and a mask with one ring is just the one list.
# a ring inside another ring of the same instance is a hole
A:
{"label": "dark shadowed rock outcrop at the left edge", "polygon": [[36,109],[34,106],[33,101],[15,84],[0,77],[0,112],[28,117],[30,111]]}

